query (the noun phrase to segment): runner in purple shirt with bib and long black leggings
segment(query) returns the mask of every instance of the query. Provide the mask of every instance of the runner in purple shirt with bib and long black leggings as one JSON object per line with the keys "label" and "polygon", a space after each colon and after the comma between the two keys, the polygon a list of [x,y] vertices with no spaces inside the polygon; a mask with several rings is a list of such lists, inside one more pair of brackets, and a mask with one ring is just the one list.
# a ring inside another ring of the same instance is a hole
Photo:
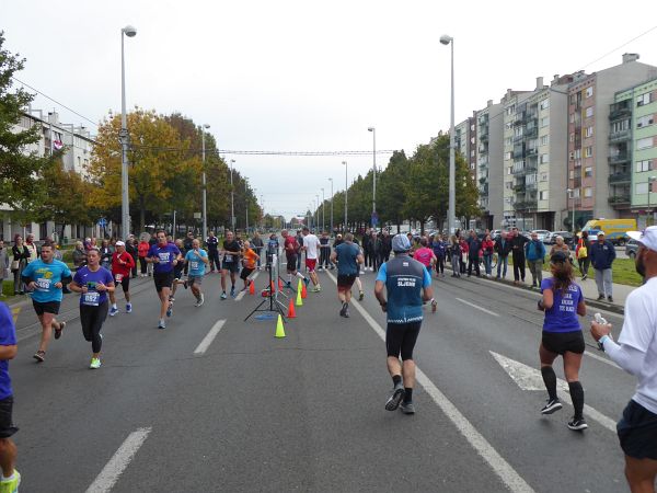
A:
{"label": "runner in purple shirt with bib and long black leggings", "polygon": [[[118,243],[118,242],[117,242]],[[126,253],[126,255],[128,255]],[[129,256],[129,255],[128,255]],[[69,285],[71,291],[80,293],[80,324],[84,339],[91,342],[91,369],[101,367],[101,346],[103,336],[101,329],[107,318],[107,293],[114,291],[112,273],[99,264],[100,253],[96,249],[87,252],[87,266],[76,273]],[[130,272],[126,275],[129,278]]]}

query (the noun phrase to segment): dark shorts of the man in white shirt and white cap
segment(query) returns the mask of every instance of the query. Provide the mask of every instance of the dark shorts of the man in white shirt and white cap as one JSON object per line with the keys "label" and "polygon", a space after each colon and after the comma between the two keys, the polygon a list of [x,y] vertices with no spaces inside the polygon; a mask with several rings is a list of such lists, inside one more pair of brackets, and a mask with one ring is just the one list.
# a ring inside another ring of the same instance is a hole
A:
{"label": "dark shorts of the man in white shirt and white cap", "polygon": [[657,460],[657,414],[631,400],[616,424],[616,432],[626,456]]}

